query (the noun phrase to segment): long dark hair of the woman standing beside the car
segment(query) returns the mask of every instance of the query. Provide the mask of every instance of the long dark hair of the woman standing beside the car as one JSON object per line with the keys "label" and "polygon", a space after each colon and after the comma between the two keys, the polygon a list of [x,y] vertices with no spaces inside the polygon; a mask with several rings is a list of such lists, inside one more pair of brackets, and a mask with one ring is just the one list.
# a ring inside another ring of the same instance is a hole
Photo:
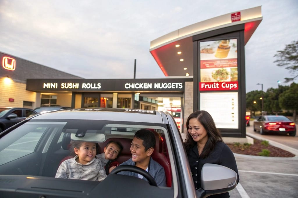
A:
{"label": "long dark hair of the woman standing beside the car", "polygon": [[206,158],[213,151],[216,142],[223,141],[221,138],[221,134],[216,128],[212,116],[207,111],[200,110],[191,113],[186,121],[187,134],[184,140],[184,145],[187,152],[189,151],[189,149],[193,148],[193,146],[197,144],[197,142],[193,140],[193,137],[188,133],[189,121],[192,118],[196,118],[207,131],[208,140],[200,155],[200,158]]}

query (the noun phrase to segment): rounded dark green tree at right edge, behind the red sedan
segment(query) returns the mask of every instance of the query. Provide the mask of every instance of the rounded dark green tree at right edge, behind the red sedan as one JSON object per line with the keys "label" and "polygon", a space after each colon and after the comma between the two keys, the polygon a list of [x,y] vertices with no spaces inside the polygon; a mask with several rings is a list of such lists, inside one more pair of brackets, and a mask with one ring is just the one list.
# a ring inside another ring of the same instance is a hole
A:
{"label": "rounded dark green tree at right edge, behind the red sedan", "polygon": [[298,110],[298,84],[292,83],[288,90],[279,95],[280,107],[284,110],[293,110],[293,119],[296,121],[296,112]]}

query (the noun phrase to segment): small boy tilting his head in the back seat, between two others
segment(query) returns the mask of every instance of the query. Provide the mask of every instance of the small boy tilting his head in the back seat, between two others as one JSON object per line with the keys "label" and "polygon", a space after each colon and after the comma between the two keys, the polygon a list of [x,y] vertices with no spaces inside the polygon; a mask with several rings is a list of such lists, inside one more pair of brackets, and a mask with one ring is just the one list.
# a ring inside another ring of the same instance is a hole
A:
{"label": "small boy tilting his head in the back seat, between two others", "polygon": [[[118,161],[116,161],[116,159],[122,150],[123,146],[120,142],[111,140],[108,141],[107,145],[103,149],[103,153],[96,155],[97,158],[100,159],[107,175],[120,164]],[[114,168],[110,170],[111,167]]]}

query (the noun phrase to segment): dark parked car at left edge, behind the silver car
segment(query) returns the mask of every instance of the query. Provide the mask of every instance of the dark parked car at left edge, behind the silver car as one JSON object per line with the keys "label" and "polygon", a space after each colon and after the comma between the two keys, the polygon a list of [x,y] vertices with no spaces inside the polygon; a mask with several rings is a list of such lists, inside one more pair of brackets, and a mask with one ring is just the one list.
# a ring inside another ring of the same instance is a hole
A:
{"label": "dark parked car at left edge, behind the silver car", "polygon": [[29,108],[0,107],[0,132],[35,114],[38,113]]}

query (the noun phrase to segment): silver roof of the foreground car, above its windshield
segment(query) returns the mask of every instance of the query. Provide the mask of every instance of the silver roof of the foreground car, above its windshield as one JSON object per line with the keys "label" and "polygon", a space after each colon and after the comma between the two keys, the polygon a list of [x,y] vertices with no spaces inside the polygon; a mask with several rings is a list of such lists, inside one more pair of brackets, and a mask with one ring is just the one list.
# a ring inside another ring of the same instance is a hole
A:
{"label": "silver roof of the foreground car, above its windshield", "polygon": [[107,120],[145,123],[168,124],[167,115],[157,110],[135,110],[121,108],[79,108],[46,112],[30,118],[37,119],[80,119],[80,120]]}

